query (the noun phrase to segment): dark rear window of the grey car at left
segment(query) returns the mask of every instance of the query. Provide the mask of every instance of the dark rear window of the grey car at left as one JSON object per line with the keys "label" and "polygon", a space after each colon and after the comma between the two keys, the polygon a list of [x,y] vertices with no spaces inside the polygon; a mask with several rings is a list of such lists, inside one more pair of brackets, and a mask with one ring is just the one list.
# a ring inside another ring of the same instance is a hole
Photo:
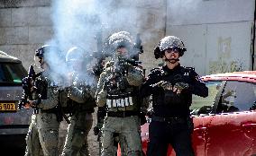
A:
{"label": "dark rear window of the grey car at left", "polygon": [[0,63],[0,83],[9,85],[21,83],[26,70],[21,63]]}

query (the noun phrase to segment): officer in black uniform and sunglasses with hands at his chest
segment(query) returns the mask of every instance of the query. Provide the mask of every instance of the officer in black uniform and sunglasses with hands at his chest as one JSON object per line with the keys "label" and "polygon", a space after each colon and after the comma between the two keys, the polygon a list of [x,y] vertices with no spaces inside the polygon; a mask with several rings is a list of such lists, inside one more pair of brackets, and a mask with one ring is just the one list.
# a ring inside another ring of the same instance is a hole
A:
{"label": "officer in black uniform and sunglasses with hands at his chest", "polygon": [[189,107],[192,94],[207,97],[208,89],[194,70],[179,64],[185,51],[175,36],[161,39],[154,50],[155,58],[162,58],[166,65],[152,69],[141,90],[142,97],[152,96],[149,156],[166,155],[169,143],[177,156],[195,155]]}

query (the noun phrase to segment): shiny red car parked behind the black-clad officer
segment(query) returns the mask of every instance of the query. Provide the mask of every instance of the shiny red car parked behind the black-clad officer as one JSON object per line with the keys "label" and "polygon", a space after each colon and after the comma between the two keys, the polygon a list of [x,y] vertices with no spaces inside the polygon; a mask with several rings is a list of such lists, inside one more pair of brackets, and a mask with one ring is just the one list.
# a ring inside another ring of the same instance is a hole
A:
{"label": "shiny red car parked behind the black-clad officer", "polygon": [[[193,96],[193,148],[199,156],[256,154],[256,71],[202,77],[209,96]],[[149,123],[142,126],[142,151],[149,141]],[[169,155],[175,152],[169,147]]]}

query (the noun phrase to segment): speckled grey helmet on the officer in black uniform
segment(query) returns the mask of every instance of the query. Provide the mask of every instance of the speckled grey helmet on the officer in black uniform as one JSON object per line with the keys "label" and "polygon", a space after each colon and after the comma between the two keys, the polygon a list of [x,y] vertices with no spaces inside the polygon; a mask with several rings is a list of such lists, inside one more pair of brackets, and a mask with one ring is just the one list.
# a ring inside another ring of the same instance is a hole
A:
{"label": "speckled grey helmet on the officer in black uniform", "polygon": [[162,58],[164,50],[168,48],[178,48],[179,56],[183,56],[184,52],[187,51],[183,42],[175,36],[167,36],[160,39],[159,45],[154,49],[155,58]]}

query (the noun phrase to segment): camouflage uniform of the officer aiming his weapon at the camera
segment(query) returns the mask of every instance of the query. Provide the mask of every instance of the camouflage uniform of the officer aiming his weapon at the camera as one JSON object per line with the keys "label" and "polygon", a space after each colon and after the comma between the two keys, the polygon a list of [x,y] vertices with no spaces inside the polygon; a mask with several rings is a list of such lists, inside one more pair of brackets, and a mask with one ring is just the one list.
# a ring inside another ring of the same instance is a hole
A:
{"label": "camouflage uniform of the officer aiming his weapon at the camera", "polygon": [[[114,64],[113,62],[110,64]],[[103,107],[107,105],[107,116],[105,117],[103,130],[103,152],[102,155],[113,156],[114,151],[114,133],[119,134],[121,138],[119,143],[121,146],[127,148],[127,155],[141,155],[141,135],[140,135],[140,119],[138,114],[140,112],[140,100],[136,97],[136,87],[142,84],[142,70],[135,66],[130,66],[128,74],[125,77],[127,86],[122,98],[119,95],[108,95],[105,91],[105,81],[113,74],[112,67],[106,68],[105,72],[100,75],[97,84],[97,105]],[[136,86],[136,87],[135,87]],[[138,94],[137,94],[138,95]],[[116,96],[116,100],[121,100],[121,105],[117,106],[114,99],[110,96]],[[123,100],[123,101],[122,101]],[[123,103],[123,104],[122,104]],[[114,104],[114,105],[112,105]],[[123,138],[123,139],[122,139]]]}

